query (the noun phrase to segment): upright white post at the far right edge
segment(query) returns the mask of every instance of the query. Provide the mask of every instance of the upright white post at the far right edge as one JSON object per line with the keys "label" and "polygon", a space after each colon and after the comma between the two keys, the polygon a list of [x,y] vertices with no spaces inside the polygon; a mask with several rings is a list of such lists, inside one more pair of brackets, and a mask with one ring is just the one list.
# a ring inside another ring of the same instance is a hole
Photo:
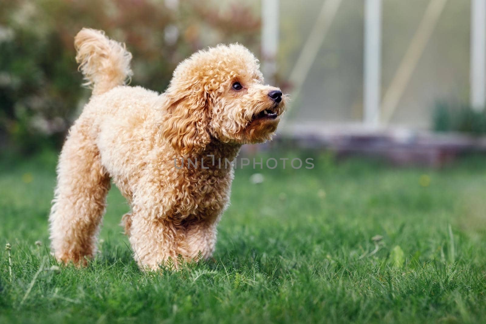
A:
{"label": "upright white post at the far right edge", "polygon": [[486,0],[471,1],[470,104],[473,109],[485,107],[486,83]]}

